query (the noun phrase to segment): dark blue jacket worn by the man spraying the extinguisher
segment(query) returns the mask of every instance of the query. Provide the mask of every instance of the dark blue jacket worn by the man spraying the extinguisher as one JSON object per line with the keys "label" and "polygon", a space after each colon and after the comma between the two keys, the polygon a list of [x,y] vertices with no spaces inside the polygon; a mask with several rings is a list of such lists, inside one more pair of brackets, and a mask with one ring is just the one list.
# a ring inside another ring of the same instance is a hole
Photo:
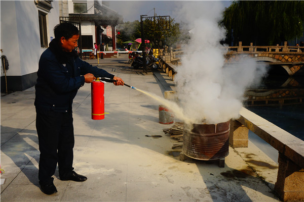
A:
{"label": "dark blue jacket worn by the man spraying the extinguisher", "polygon": [[64,54],[65,56],[63,53],[56,53],[56,48],[49,47],[41,55],[35,85],[36,108],[57,112],[71,111],[73,98],[85,83],[85,77],[82,75],[92,73],[100,77],[114,77],[105,70],[81,60],[75,52]]}

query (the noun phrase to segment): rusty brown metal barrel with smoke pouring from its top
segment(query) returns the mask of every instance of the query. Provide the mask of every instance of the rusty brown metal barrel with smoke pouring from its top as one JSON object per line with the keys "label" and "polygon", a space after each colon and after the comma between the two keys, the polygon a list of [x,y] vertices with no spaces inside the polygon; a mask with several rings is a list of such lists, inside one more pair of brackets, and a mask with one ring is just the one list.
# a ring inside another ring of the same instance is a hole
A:
{"label": "rusty brown metal barrel with smoke pouring from its top", "polygon": [[218,124],[184,124],[183,149],[187,157],[217,160],[229,155],[230,121]]}

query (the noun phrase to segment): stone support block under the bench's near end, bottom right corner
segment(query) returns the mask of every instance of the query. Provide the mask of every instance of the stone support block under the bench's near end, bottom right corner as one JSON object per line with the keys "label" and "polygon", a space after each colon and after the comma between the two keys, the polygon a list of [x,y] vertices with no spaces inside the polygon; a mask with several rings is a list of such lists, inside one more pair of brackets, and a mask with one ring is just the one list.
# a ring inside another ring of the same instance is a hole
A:
{"label": "stone support block under the bench's near end, bottom right corner", "polygon": [[279,170],[275,191],[284,201],[304,200],[304,169],[279,153]]}

